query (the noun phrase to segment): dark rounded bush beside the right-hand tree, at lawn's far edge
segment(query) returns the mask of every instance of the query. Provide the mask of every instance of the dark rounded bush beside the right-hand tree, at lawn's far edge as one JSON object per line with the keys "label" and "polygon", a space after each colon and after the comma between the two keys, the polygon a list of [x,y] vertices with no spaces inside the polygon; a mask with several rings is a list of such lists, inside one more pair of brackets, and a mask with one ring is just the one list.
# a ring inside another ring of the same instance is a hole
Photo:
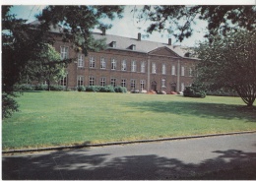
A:
{"label": "dark rounded bush beside the right-hand tree, at lawn's far edge", "polygon": [[189,97],[206,97],[206,92],[204,91],[203,87],[201,85],[192,84],[191,87],[186,87],[183,91],[184,96]]}

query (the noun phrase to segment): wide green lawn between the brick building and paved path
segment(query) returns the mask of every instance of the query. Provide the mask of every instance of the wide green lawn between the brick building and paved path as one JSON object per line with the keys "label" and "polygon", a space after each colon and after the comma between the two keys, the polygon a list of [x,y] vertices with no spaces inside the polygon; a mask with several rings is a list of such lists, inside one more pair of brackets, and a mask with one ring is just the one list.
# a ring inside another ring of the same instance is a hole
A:
{"label": "wide green lawn between the brick building and paved path", "polygon": [[34,91],[18,102],[3,150],[256,130],[239,97]]}

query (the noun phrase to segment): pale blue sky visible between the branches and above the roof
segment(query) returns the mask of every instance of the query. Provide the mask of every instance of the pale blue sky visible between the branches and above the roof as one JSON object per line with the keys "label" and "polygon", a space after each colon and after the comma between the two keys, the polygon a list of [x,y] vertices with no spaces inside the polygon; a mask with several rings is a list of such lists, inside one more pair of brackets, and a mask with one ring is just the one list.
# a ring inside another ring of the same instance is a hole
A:
{"label": "pale blue sky visible between the branches and above the roof", "polygon": [[[234,0],[233,0],[234,1]],[[248,1],[248,0],[247,0]],[[243,0],[245,3],[246,0]],[[250,1],[251,2],[251,1]],[[92,2],[91,2],[92,3]],[[89,3],[90,4],[90,3]],[[146,3],[145,3],[146,4]],[[15,5],[12,8],[12,13],[17,15],[17,18],[28,19],[28,23],[35,20],[34,15],[40,13],[45,5]],[[142,5],[136,5],[136,7],[143,7]],[[133,18],[133,13],[131,10],[134,8],[134,5],[126,5],[123,18],[115,19],[110,22],[113,27],[110,30],[106,30],[107,34],[120,35],[125,37],[137,38],[138,32],[141,32],[142,35],[146,34],[144,30],[147,29],[149,22],[136,23]],[[149,37],[142,37],[145,40],[158,41],[162,43],[167,43],[168,38],[171,38],[172,44],[182,45],[182,46],[195,46],[198,42],[204,41],[204,34],[206,33],[207,23],[204,21],[197,21],[197,24],[192,27],[193,35],[189,38],[184,39],[182,42],[176,41],[173,35],[168,34],[167,32],[153,32]],[[141,29],[138,29],[141,28]],[[99,30],[94,30],[99,31]]]}

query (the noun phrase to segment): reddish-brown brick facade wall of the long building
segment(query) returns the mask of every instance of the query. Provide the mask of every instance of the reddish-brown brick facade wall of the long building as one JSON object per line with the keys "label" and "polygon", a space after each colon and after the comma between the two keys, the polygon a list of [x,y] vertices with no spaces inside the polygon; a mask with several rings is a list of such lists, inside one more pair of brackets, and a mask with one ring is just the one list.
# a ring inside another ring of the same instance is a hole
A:
{"label": "reddish-brown brick facade wall of the long building", "polygon": [[[74,58],[67,71],[67,88],[76,89],[78,77],[83,77],[83,86],[90,85],[90,77],[95,80],[95,85],[100,85],[100,79],[105,78],[105,86],[111,84],[111,79],[116,79],[116,86],[121,86],[122,80],[126,80],[126,88],[131,91],[131,80],[135,80],[135,89],[142,91],[141,81],[144,82],[146,91],[183,91],[184,87],[191,85],[193,77],[189,70],[193,69],[196,61],[190,58],[177,56],[174,52],[159,48],[150,53],[131,50],[106,49],[100,52],[89,52],[83,55],[84,66],[78,67],[78,55],[69,43],[63,43],[60,39],[54,44],[60,52],[61,46],[69,47],[69,58]],[[90,68],[90,57],[96,60],[96,67]],[[105,69],[100,69],[100,58],[105,59]],[[111,70],[111,59],[116,61],[116,69]],[[121,70],[122,60],[126,60],[126,71]],[[136,61],[136,71],[132,72],[132,61]],[[145,72],[141,72],[141,62],[145,62]],[[156,73],[153,72],[153,64],[156,65]],[[162,65],[165,65],[165,74],[162,74]],[[175,66],[175,74],[172,75],[172,66]],[[184,67],[184,68],[182,68]],[[181,75],[184,69],[184,75]],[[164,79],[164,85],[162,85]]]}

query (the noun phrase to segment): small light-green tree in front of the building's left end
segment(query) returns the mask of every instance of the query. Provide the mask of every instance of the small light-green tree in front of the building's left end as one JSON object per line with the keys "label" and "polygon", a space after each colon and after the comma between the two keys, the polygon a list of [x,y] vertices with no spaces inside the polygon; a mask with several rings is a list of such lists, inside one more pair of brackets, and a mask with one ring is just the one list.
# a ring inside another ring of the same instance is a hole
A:
{"label": "small light-green tree in front of the building's left end", "polygon": [[31,80],[46,81],[48,91],[52,82],[57,82],[66,75],[69,60],[61,60],[60,54],[50,44],[44,44],[37,53],[36,61],[30,60],[27,72]]}

